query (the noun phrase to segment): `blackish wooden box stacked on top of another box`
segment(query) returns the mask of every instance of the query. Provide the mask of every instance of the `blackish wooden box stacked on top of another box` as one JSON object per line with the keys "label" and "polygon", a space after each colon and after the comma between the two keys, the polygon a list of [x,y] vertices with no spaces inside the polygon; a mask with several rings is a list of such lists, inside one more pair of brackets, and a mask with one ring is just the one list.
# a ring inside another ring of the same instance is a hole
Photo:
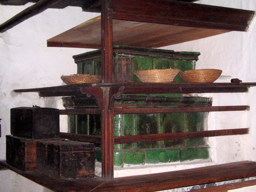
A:
{"label": "blackish wooden box stacked on top of another box", "polygon": [[56,108],[12,108],[11,134],[29,139],[59,137],[60,112]]}

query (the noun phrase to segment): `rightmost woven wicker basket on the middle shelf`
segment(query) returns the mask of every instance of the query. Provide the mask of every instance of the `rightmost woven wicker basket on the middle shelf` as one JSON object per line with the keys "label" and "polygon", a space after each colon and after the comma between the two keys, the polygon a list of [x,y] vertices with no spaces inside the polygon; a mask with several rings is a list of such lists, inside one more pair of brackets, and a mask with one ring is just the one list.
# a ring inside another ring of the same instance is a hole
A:
{"label": "rightmost woven wicker basket on the middle shelf", "polygon": [[212,83],[217,80],[222,71],[220,69],[197,69],[180,72],[180,76],[188,83]]}

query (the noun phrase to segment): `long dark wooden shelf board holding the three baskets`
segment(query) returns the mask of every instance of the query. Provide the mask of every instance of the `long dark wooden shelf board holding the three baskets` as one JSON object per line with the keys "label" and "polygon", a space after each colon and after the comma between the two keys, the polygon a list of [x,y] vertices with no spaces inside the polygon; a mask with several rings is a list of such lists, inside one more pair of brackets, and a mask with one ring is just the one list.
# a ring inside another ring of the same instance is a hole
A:
{"label": "long dark wooden shelf board holding the three baskets", "polygon": [[212,92],[248,92],[256,83],[99,83],[61,85],[45,88],[15,89],[14,92],[38,92],[40,96],[82,96],[80,89],[87,87],[121,87],[124,94],[139,93],[212,93]]}

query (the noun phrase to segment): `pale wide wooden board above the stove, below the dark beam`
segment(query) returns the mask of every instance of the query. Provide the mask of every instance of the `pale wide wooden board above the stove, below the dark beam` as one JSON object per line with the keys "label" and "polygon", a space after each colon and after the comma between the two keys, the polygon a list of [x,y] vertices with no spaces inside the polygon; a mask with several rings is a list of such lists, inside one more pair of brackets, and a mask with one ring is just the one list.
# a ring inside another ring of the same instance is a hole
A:
{"label": "pale wide wooden board above the stove, below the dark beam", "polygon": [[[101,48],[100,16],[47,40],[48,47]],[[159,48],[230,32],[127,20],[113,20],[113,45]]]}

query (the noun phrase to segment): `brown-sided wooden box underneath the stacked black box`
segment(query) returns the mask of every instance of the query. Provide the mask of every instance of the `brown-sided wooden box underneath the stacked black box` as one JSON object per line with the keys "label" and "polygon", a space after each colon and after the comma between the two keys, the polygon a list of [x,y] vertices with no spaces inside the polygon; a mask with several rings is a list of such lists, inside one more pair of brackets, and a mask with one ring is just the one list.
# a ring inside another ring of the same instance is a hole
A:
{"label": "brown-sided wooden box underneath the stacked black box", "polygon": [[[52,140],[52,139],[48,139]],[[54,140],[64,140],[56,138]],[[39,139],[6,136],[6,163],[22,171],[36,171],[36,143]],[[44,141],[46,141],[44,139]]]}

